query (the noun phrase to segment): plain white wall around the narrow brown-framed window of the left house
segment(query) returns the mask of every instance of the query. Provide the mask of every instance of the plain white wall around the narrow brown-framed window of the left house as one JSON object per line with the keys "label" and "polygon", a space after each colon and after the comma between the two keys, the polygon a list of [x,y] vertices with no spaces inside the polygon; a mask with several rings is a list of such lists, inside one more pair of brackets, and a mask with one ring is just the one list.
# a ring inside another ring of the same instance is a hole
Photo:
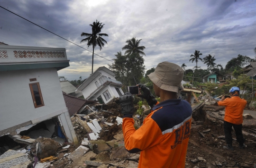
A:
{"label": "plain white wall around the narrow brown-framed window of the left house", "polygon": [[[30,82],[30,78],[37,81]],[[35,108],[29,84],[40,84],[44,106]],[[55,68],[0,72],[0,130],[66,109]]]}

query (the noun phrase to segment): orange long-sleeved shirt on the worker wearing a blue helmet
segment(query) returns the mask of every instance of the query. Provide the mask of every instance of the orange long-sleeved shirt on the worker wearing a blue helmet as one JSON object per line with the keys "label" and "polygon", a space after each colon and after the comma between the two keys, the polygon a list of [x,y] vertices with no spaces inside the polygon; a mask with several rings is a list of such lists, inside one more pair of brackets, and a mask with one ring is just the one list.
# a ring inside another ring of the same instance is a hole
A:
{"label": "orange long-sleeved shirt on the worker wearing a blue helmet", "polygon": [[239,96],[232,96],[226,98],[224,101],[219,101],[219,106],[225,106],[225,117],[224,121],[228,121],[232,124],[243,123],[243,112],[246,107],[247,101],[241,99]]}

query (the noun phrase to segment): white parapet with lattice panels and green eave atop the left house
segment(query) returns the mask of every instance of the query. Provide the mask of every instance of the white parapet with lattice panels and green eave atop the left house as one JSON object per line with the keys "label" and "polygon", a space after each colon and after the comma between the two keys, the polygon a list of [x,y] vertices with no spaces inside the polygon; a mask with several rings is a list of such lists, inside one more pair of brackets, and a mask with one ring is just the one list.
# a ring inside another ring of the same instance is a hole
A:
{"label": "white parapet with lattice panels and green eave atop the left house", "polygon": [[0,71],[69,67],[66,49],[0,45]]}

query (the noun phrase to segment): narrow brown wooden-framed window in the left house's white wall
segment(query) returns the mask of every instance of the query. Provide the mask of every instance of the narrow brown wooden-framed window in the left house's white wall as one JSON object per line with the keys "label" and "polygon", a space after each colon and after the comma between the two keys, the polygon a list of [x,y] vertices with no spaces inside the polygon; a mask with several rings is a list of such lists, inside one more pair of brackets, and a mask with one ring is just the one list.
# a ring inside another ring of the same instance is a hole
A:
{"label": "narrow brown wooden-framed window in the left house's white wall", "polygon": [[29,88],[31,91],[35,108],[44,106],[44,101],[43,101],[39,83],[37,82],[37,83],[29,84]]}

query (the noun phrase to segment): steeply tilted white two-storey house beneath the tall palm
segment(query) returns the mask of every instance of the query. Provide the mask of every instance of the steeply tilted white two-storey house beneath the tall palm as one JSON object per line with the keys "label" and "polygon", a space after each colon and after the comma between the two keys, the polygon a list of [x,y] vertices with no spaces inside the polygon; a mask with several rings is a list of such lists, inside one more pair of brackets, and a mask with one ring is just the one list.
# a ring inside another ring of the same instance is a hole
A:
{"label": "steeply tilted white two-storey house beneath the tall palm", "polygon": [[110,102],[114,97],[124,94],[122,83],[114,77],[115,73],[106,67],[99,67],[78,88],[85,100]]}

